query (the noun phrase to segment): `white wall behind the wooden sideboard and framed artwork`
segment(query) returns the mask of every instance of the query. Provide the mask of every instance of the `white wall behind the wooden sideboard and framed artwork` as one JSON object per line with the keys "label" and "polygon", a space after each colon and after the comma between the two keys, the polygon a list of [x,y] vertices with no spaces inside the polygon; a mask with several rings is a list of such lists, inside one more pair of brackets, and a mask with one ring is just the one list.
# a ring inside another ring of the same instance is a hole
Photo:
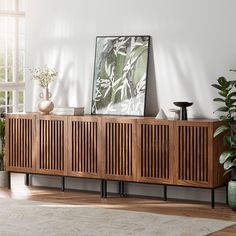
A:
{"label": "white wall behind the wooden sideboard and framed artwork", "polygon": [[[219,76],[236,68],[235,0],[34,0],[26,14],[26,66],[59,71],[56,106],[90,112],[95,37],[151,35],[147,115],[174,101],[193,101],[192,117],[214,118]],[[26,111],[37,110],[40,88],[27,80]]]}

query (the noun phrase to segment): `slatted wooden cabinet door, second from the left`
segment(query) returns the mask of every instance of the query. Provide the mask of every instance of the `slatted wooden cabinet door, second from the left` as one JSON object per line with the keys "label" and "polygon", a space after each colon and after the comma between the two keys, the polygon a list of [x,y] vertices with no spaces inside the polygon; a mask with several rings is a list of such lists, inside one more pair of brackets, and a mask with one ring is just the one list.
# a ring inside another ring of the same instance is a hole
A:
{"label": "slatted wooden cabinet door, second from the left", "polygon": [[67,116],[37,117],[38,158],[36,172],[67,174]]}

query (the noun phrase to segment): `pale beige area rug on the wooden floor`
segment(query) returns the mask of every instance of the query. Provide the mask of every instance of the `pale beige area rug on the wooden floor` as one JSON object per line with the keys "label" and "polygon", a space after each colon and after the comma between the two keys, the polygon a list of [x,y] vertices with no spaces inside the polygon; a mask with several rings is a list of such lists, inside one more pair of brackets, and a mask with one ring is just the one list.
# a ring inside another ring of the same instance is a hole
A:
{"label": "pale beige area rug on the wooden floor", "polygon": [[0,199],[4,236],[201,236],[235,222],[28,200]]}

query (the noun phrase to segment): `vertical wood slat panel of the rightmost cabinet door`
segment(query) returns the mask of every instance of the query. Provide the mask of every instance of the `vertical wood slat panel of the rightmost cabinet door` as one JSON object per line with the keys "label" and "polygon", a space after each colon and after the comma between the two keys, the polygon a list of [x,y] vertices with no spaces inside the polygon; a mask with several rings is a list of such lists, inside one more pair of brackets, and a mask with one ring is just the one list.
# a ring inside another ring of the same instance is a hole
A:
{"label": "vertical wood slat panel of the rightmost cabinet door", "polygon": [[[176,123],[177,184],[209,186],[208,124]],[[213,139],[213,134],[212,134]]]}

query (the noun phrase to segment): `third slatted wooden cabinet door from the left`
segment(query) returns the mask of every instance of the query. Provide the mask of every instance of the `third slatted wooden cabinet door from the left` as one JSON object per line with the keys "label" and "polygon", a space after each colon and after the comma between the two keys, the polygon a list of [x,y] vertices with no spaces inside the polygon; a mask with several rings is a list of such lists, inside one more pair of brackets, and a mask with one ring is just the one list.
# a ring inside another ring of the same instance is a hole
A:
{"label": "third slatted wooden cabinet door from the left", "polygon": [[68,175],[101,178],[101,122],[96,116],[68,118]]}

